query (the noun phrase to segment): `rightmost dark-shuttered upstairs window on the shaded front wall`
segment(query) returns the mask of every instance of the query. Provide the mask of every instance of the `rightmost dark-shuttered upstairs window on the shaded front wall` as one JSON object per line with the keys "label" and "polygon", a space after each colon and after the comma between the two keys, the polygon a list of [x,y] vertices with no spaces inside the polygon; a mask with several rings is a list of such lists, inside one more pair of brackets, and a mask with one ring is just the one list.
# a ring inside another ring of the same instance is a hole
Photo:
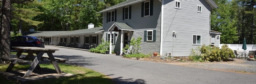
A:
{"label": "rightmost dark-shuttered upstairs window on the shaded front wall", "polygon": [[141,7],[141,17],[153,15],[153,0],[142,2]]}

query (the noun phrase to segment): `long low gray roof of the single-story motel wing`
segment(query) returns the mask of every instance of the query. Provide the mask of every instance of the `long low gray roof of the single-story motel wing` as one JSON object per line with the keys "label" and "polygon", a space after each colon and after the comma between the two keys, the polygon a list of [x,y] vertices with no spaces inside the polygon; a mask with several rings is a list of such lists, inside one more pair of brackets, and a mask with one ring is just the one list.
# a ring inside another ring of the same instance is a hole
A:
{"label": "long low gray roof of the single-story motel wing", "polygon": [[79,34],[95,34],[104,31],[103,27],[82,29],[74,31],[38,31],[38,32],[25,32],[22,35],[25,36],[67,36],[67,35],[79,35]]}

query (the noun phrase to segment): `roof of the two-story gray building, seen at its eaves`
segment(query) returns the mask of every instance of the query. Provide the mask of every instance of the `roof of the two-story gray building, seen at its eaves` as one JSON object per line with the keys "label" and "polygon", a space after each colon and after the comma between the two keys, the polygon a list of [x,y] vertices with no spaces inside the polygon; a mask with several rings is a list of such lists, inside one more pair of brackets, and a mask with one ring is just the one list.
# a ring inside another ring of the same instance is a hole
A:
{"label": "roof of the two-story gray building, seen at its eaves", "polygon": [[[97,13],[102,13],[102,12],[118,9],[120,7],[129,6],[129,5],[140,3],[140,2],[143,2],[143,1],[146,1],[146,0],[128,0],[128,1],[124,1],[122,3],[119,3],[119,4],[116,4],[116,5],[111,6],[109,8],[106,8],[106,9],[100,11],[100,12],[97,12]],[[218,6],[212,0],[205,0],[205,1],[211,6],[212,9],[218,8]]]}

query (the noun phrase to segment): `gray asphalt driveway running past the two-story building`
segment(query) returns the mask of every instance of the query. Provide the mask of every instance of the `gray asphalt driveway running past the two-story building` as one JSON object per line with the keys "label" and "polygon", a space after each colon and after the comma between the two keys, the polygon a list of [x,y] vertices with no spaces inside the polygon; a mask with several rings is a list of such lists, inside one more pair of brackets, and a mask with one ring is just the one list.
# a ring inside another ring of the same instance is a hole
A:
{"label": "gray asphalt driveway running past the two-story building", "polygon": [[255,84],[256,75],[221,72],[123,58],[115,54],[55,46],[56,57],[69,59],[66,64],[101,72],[120,84]]}

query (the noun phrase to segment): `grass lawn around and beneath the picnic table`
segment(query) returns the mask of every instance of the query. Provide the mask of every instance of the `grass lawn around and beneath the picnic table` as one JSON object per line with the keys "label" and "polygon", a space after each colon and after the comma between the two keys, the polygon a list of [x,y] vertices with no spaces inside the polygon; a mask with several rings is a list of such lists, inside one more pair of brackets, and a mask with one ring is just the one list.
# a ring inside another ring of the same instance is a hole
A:
{"label": "grass lawn around and beneath the picnic table", "polygon": [[[58,64],[61,70],[65,73],[75,74],[75,77],[62,77],[62,78],[52,78],[46,80],[38,80],[34,82],[30,82],[27,84],[115,84],[111,78],[105,76],[102,73],[79,67],[79,66],[71,66],[66,64]],[[7,69],[9,65],[0,64],[0,71],[3,72]],[[28,69],[30,65],[19,65],[16,64],[13,70],[19,69]],[[41,68],[48,68],[55,70],[52,64],[40,64]],[[19,84],[15,81],[9,81],[4,78],[3,75],[0,75],[1,84]]]}

